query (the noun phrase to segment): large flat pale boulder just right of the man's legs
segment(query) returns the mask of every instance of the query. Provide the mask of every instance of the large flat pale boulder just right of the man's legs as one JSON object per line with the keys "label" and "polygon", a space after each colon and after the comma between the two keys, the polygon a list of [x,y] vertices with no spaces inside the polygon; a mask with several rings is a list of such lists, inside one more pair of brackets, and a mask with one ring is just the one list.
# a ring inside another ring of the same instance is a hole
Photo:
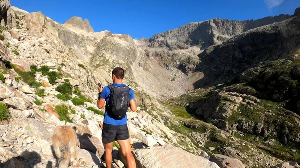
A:
{"label": "large flat pale boulder just right of the man's legs", "polygon": [[[150,149],[136,149],[137,168],[219,168],[216,163],[167,144]],[[120,160],[126,164],[124,157]]]}

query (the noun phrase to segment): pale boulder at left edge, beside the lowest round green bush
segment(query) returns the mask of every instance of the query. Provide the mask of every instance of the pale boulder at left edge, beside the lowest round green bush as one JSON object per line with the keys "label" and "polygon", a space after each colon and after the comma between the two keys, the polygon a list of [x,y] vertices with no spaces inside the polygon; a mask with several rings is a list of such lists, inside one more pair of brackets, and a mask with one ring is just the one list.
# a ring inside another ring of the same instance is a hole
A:
{"label": "pale boulder at left edge, beside the lowest round green bush", "polygon": [[8,107],[20,110],[27,110],[28,107],[32,106],[31,102],[21,97],[4,99],[3,102],[6,103]]}

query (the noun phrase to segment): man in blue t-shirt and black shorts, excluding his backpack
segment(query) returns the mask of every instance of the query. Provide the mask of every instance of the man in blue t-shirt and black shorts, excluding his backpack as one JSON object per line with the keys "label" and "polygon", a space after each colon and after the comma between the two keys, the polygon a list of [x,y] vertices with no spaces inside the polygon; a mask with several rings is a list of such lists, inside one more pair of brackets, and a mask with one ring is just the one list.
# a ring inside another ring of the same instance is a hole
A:
{"label": "man in blue t-shirt and black shorts, excluding his backpack", "polygon": [[[112,71],[112,81],[115,87],[124,88],[123,78],[125,71],[123,68],[114,68]],[[124,118],[116,118],[109,110],[109,99],[111,98],[111,90],[109,86],[104,88],[98,87],[99,99],[97,101],[98,108],[102,109],[106,102],[106,110],[104,114],[103,130],[102,130],[102,142],[105,149],[105,162],[106,167],[111,168],[112,163],[112,148],[113,142],[117,141],[120,145],[122,154],[127,159],[128,168],[136,168],[135,159],[131,153],[129,131],[127,127],[127,115]],[[132,89],[129,89],[129,107],[133,112],[136,111],[137,105],[134,100],[134,93]]]}

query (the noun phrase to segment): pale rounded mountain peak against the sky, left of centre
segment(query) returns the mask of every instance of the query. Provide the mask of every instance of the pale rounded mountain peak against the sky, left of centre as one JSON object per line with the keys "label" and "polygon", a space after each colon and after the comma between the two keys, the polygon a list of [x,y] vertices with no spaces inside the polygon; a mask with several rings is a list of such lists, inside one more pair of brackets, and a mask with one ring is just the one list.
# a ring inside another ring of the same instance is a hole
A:
{"label": "pale rounded mountain peak against the sky, left of centre", "polygon": [[87,19],[82,20],[82,17],[72,17],[69,20],[67,20],[64,25],[66,25],[69,28],[75,28],[79,30],[83,30],[86,32],[94,32],[93,28],[91,27],[89,21]]}

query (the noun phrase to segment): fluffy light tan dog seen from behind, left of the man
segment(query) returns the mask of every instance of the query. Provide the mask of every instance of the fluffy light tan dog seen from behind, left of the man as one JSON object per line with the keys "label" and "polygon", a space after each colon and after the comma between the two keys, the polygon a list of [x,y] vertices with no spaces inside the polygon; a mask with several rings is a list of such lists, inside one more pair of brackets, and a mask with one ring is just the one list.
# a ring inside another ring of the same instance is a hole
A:
{"label": "fluffy light tan dog seen from behind, left of the man", "polygon": [[53,149],[58,159],[57,168],[79,166],[77,161],[78,138],[76,131],[70,126],[58,126],[52,137]]}

